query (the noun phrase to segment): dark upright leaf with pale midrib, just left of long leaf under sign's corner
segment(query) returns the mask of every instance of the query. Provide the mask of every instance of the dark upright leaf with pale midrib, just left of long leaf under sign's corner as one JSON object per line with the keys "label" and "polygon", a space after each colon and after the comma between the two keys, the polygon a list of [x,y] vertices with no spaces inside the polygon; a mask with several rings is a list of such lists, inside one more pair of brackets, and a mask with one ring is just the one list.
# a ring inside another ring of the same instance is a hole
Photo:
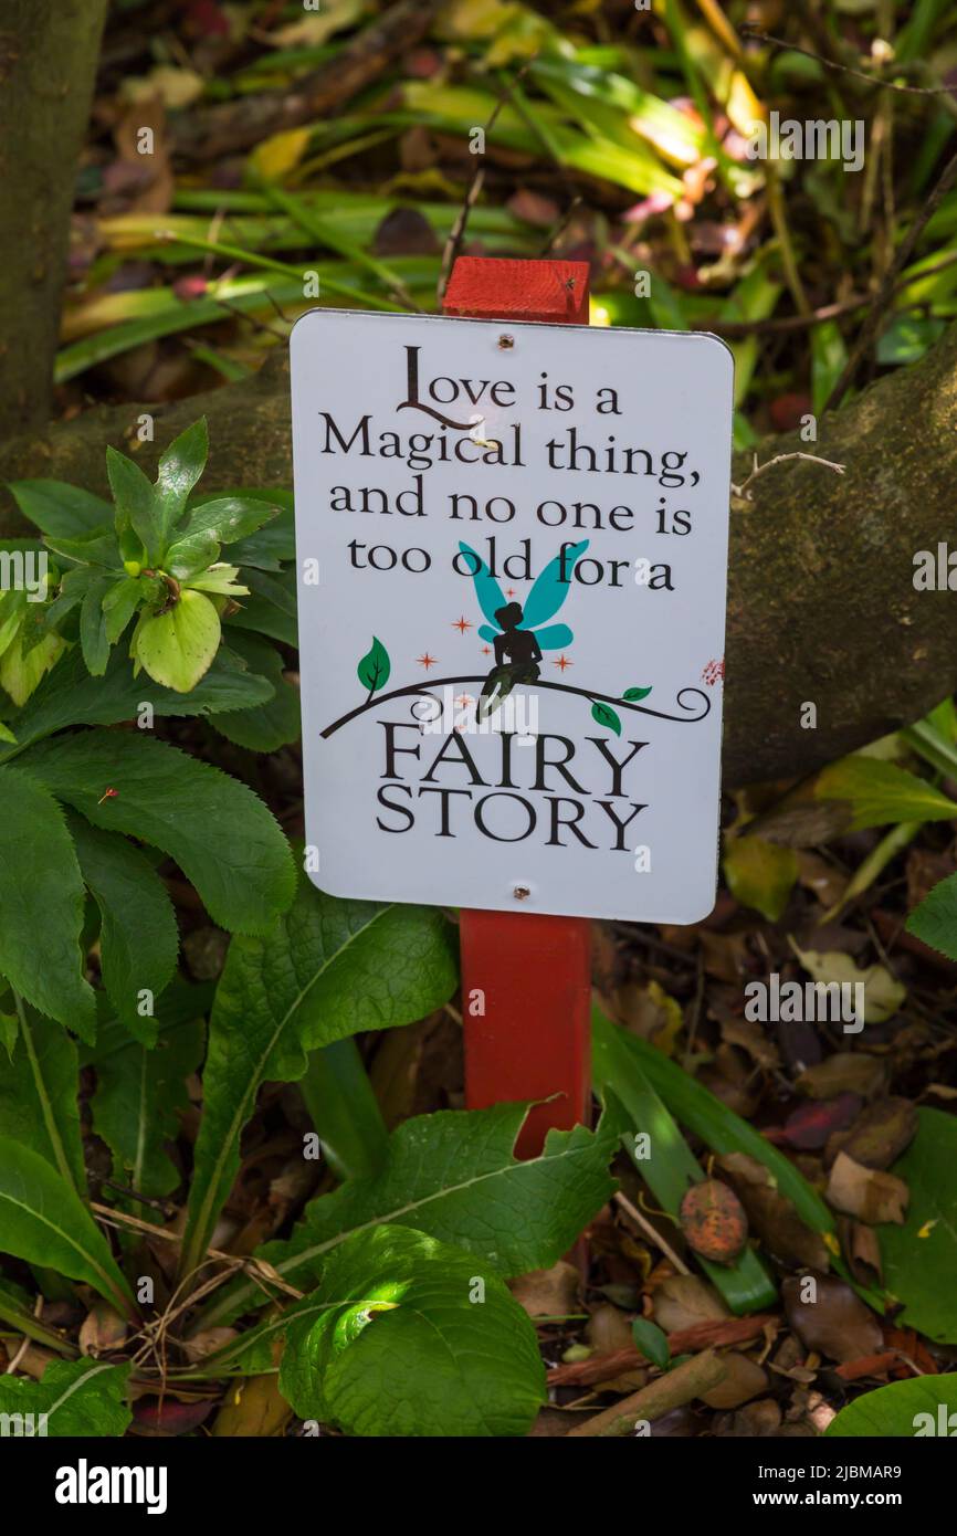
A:
{"label": "dark upright leaf with pale midrib, just left of long leaf under sign's corner", "polygon": [[[187,998],[189,989],[183,994]],[[166,1143],[180,1130],[180,1111],[189,1107],[186,1078],[200,1066],[204,1043],[206,1026],[194,1006],[163,1023],[152,1049],[114,1025],[100,1031],[88,1057],[97,1069],[94,1129],[114,1155],[114,1178],[140,1195],[155,1200],[180,1183]]]}

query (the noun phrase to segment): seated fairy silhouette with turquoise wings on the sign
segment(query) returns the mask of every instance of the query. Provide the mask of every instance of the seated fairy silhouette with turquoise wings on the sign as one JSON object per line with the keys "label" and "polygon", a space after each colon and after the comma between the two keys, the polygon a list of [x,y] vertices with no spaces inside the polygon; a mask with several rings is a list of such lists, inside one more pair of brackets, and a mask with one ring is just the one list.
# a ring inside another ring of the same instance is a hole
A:
{"label": "seated fairy silhouette with turquoise wings on the sign", "polygon": [[575,639],[567,624],[547,624],[545,621],[558,613],[568,596],[571,571],[587,548],[588,539],[582,539],[581,544],[567,545],[564,559],[556,554],[555,559],[548,561],[531,584],[522,608],[521,602],[505,602],[502,588],[481,554],[476,554],[470,545],[459,544],[459,550],[470,558],[473,565],[472,579],[479,608],[495,624],[495,628],[492,628],[492,622],[482,624],[478,631],[484,641],[492,641],[495,645],[495,667],[482,687],[481,713],[492,714],[493,710],[498,710],[516,684],[536,682],[542,650],[564,650]]}

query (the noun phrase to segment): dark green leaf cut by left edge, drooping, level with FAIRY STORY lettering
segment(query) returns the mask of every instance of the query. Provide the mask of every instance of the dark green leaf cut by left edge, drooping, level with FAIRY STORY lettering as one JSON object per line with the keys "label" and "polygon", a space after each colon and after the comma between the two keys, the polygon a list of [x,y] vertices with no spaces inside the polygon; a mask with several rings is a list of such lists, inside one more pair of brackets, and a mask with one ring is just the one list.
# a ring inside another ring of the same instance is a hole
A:
{"label": "dark green leaf cut by left edge, drooping, level with FAIRY STORY lettering", "polygon": [[0,768],[0,972],[41,1014],[88,1038],[83,880],[63,811],[20,766]]}

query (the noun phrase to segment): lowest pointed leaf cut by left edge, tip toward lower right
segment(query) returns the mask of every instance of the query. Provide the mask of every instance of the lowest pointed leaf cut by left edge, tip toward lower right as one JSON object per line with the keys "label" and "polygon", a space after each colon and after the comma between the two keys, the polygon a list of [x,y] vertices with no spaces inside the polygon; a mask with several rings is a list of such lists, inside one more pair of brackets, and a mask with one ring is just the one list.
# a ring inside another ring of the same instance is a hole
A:
{"label": "lowest pointed leaf cut by left edge, tip toward lower right", "polygon": [[0,1137],[0,1252],[83,1279],[135,1316],[129,1286],[77,1192],[9,1137]]}

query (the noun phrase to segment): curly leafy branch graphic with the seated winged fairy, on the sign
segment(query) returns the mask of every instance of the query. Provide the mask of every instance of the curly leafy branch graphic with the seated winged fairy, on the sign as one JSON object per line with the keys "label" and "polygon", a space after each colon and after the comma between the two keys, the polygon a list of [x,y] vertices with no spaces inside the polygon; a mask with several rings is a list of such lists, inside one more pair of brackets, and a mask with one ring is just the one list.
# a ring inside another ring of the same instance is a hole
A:
{"label": "curly leafy branch graphic with the seated winged fairy, on the sign", "polygon": [[[488,621],[479,625],[478,634],[495,647],[495,665],[492,670],[487,674],[479,673],[478,676],[435,677],[429,685],[409,684],[404,688],[381,693],[392,674],[392,662],[382,642],[373,636],[370,650],[363,656],[356,668],[356,676],[363,687],[369,690],[369,696],[364,703],[356,705],[355,710],[327,725],[321,733],[323,739],[333,736],[335,731],[349,725],[359,714],[390,699],[401,699],[410,694],[433,697],[433,688],[464,682],[482,684],[478,707],[479,719],[487,719],[493,714],[518,684],[527,684],[536,688],[547,688],[553,693],[568,693],[576,694],[579,699],[587,699],[591,705],[591,719],[605,730],[614,731],[616,736],[622,733],[622,722],[618,714],[618,710],[622,707],[634,710],[639,714],[654,716],[659,720],[677,720],[684,723],[704,720],[711,710],[711,700],[700,688],[682,688],[676,697],[676,703],[684,713],[668,714],[662,710],[651,710],[639,702],[648,697],[651,693],[650,687],[625,688],[624,694],[616,697],[613,694],[596,693],[593,688],[576,688],[565,682],[548,682],[539,676],[542,651],[565,651],[575,641],[575,633],[567,624],[550,624],[548,621],[555,617],[568,596],[575,565],[587,548],[588,539],[582,539],[579,544],[562,545],[561,551],[536,576],[522,607],[519,602],[507,601],[505,593],[481,554],[469,544],[459,542],[459,551],[473,565],[470,574],[475,582],[475,594],[479,608]],[[685,702],[685,699],[694,702]],[[702,703],[704,708],[700,708]]]}

